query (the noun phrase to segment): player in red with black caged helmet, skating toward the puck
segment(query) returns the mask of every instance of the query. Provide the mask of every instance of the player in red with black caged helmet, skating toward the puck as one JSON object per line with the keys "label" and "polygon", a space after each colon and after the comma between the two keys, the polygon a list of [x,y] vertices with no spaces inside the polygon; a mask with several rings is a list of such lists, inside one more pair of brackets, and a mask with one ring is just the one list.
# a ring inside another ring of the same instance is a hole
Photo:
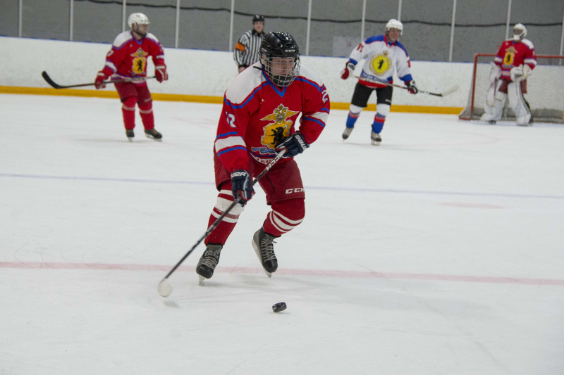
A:
{"label": "player in red with black caged helmet, skating toward the puck", "polygon": [[[271,211],[252,237],[252,246],[269,277],[278,267],[274,239],[304,220],[304,186],[293,157],[323,131],[329,117],[329,96],[324,84],[300,67],[298,44],[290,34],[266,34],[260,55],[261,61],[240,72],[223,97],[214,143],[219,195],[208,227],[234,197],[239,197],[241,204],[235,205],[205,239],[206,250],[196,268],[200,281],[214,274],[221,249],[254,193],[252,178],[283,149],[287,150],[283,158],[259,180]],[[295,129],[298,121],[299,129]]]}

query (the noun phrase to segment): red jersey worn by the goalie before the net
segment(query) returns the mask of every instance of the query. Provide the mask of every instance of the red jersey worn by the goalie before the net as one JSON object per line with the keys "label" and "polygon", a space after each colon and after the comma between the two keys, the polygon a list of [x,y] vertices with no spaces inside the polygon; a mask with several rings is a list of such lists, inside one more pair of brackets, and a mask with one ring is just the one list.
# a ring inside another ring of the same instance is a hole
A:
{"label": "red jersey worn by the goalie before the net", "polygon": [[529,39],[522,39],[517,43],[513,42],[513,39],[507,39],[501,44],[494,62],[501,67],[501,77],[510,80],[511,68],[527,64],[533,70],[537,66],[537,56]]}

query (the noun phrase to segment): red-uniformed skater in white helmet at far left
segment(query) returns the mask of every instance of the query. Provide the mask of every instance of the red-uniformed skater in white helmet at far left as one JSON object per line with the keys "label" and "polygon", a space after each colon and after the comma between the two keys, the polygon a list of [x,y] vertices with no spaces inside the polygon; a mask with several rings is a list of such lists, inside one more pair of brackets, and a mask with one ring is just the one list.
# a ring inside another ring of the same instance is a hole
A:
{"label": "red-uniformed skater in white helmet at far left", "polygon": [[[106,87],[103,83],[108,77],[112,80],[131,78],[132,82],[116,83],[116,90],[123,105],[123,123],[128,141],[133,141],[135,133],[135,103],[145,127],[145,136],[161,141],[162,135],[154,129],[152,97],[144,77],[147,77],[147,58],[152,57],[154,74],[159,82],[168,80],[164,63],[163,47],[159,39],[147,32],[149,18],[143,13],[132,13],[128,18],[131,31],[119,34],[106,55],[104,69],[96,76],[96,88]],[[136,79],[136,80],[135,80]]]}

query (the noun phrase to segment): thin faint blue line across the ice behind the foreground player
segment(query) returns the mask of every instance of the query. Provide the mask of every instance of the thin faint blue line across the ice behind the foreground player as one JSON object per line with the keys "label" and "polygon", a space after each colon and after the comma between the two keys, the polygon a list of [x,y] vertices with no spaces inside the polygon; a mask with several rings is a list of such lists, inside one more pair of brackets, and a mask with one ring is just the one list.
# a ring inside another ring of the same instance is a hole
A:
{"label": "thin faint blue line across the ice behind the foreground player", "polygon": [[[70,179],[77,181],[103,181],[103,182],[137,182],[141,184],[184,184],[184,185],[211,185],[213,182],[195,181],[173,181],[165,179],[116,179],[110,177],[73,177],[73,176],[42,176],[39,174],[14,174],[0,173],[0,177],[16,177],[27,179]],[[374,189],[374,188],[355,188],[355,187],[331,187],[331,186],[305,186],[310,190],[331,190],[331,191],[358,191],[361,193],[401,193],[401,194],[429,194],[441,196],[491,196],[498,198],[541,198],[541,199],[564,199],[564,196],[540,196],[534,194],[510,194],[510,193],[469,193],[463,191],[424,191],[424,190],[403,190],[403,189]]]}

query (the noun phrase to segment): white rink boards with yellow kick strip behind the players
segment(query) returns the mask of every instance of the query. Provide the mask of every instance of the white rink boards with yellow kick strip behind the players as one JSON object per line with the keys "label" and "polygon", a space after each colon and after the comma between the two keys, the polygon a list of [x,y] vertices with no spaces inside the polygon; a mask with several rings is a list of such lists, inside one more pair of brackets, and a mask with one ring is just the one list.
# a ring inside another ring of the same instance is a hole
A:
{"label": "white rink boards with yellow kick strip behind the players", "polygon": [[[43,70],[59,84],[92,82],[104,66],[109,44],[63,42],[55,40],[0,37],[0,92],[11,94],[43,94],[117,97],[111,85],[102,90],[52,89],[41,76]],[[149,81],[156,100],[200,101],[221,103],[223,92],[237,74],[233,56],[224,51],[197,49],[165,49],[169,80],[162,84]],[[346,58],[302,57],[302,66],[317,72],[331,98],[331,108],[347,109],[355,80],[343,81],[340,72]],[[362,66],[360,63],[357,66]],[[149,75],[152,74],[149,63]],[[359,72],[357,71],[356,74]],[[458,84],[460,89],[444,98],[426,94],[411,95],[402,89],[393,93],[394,111],[422,113],[459,113],[467,101],[472,77],[470,63],[413,61],[412,76],[419,89],[441,92]],[[400,80],[395,80],[401,84]],[[370,103],[374,106],[372,96]]]}

